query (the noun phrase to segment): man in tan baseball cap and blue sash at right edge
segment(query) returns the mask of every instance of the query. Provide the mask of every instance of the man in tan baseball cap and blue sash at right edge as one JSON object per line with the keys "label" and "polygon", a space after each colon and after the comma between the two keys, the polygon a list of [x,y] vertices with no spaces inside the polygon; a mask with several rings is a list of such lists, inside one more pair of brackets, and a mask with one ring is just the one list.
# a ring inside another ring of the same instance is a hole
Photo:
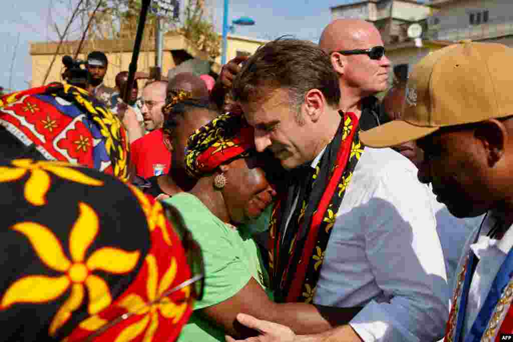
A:
{"label": "man in tan baseball cap and blue sash at right edge", "polygon": [[506,340],[513,332],[513,49],[463,43],[424,57],[402,119],[361,134],[367,146],[417,140],[418,177],[457,217],[487,212],[463,248],[446,341]]}

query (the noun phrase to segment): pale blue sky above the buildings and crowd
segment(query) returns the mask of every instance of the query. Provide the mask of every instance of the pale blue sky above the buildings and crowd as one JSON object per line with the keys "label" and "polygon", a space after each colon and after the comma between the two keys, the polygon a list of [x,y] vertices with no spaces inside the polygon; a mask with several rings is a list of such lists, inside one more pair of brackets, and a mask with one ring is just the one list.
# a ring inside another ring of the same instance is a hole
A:
{"label": "pale blue sky above the buildings and crowd", "polygon": [[[182,0],[183,2],[184,0]],[[73,1],[74,3],[76,1]],[[249,16],[254,26],[236,27],[235,34],[255,38],[272,39],[283,34],[293,34],[302,39],[317,40],[329,23],[329,7],[351,0],[231,0],[229,22],[241,16]],[[207,0],[213,5],[214,23],[221,31],[223,0]],[[44,42],[55,39],[49,27],[52,20],[65,25],[71,11],[69,0],[12,1],[2,6],[0,13],[0,85],[9,88],[11,65],[13,65],[11,86],[15,90],[26,89],[31,79],[29,42]],[[52,11],[49,11],[49,8]],[[51,12],[51,13],[50,13]],[[75,33],[75,36],[77,33]],[[17,39],[19,36],[19,44]],[[14,57],[14,62],[13,62]],[[13,63],[12,63],[13,62]]]}

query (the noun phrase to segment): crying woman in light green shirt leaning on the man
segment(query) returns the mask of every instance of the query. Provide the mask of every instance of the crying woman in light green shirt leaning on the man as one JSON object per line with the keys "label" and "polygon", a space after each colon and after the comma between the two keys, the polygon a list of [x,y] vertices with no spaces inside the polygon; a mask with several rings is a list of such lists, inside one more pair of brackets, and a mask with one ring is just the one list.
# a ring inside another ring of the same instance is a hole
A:
{"label": "crying woman in light green shirt leaning on the man", "polygon": [[[166,120],[173,125],[172,114]],[[346,315],[333,314],[331,308],[277,304],[267,291],[267,272],[248,227],[266,221],[276,196],[270,184],[280,183],[278,170],[283,169],[277,160],[255,152],[253,129],[243,117],[222,114],[196,130],[185,155],[187,171],[197,182],[188,193],[165,202],[180,210],[201,246],[205,291],[179,342],[224,341],[225,334],[247,337],[252,332],[236,324],[239,312],[277,321],[296,333],[323,332],[344,323]]]}

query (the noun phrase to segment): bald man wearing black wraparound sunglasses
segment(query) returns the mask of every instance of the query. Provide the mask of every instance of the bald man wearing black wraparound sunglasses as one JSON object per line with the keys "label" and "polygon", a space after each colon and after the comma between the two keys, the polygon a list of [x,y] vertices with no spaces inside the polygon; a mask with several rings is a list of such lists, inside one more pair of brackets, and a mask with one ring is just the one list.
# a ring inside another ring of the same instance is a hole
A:
{"label": "bald man wearing black wraparound sunglasses", "polygon": [[362,20],[337,19],[326,26],[319,46],[339,76],[340,109],[355,113],[362,130],[382,124],[374,95],[388,88],[390,61],[378,29]]}

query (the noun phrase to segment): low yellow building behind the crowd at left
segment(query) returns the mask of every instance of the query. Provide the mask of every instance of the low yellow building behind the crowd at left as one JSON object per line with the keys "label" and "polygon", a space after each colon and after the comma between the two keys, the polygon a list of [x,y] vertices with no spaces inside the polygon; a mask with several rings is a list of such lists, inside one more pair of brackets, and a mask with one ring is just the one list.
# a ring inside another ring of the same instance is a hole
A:
{"label": "low yellow building behind the crowd at left", "polygon": [[[189,59],[196,58],[207,61],[210,65],[210,72],[219,74],[221,70],[221,57],[212,59],[207,53],[200,51],[182,34],[168,32],[164,35],[163,56],[162,56],[162,74],[167,75],[168,70],[172,69]],[[227,60],[238,54],[252,54],[259,46],[267,41],[253,39],[237,35],[228,35],[227,42]],[[59,54],[56,55],[55,62],[51,68],[46,80],[50,82],[62,81],[61,74],[64,71],[62,57],[64,55],[74,55],[79,42],[65,42],[59,48]],[[123,70],[128,70],[132,57],[133,38],[123,37],[121,39],[103,39],[84,42],[82,51],[103,51],[109,60],[109,67],[105,75],[105,83],[109,87],[114,87],[114,78],[116,74]],[[57,43],[40,42],[30,43],[30,56],[32,59],[32,87],[42,86],[43,79],[54,58],[57,49]],[[85,59],[86,54],[79,54],[79,59]],[[137,61],[137,71],[149,72],[151,67],[155,66],[155,39],[143,38],[141,52]]]}

